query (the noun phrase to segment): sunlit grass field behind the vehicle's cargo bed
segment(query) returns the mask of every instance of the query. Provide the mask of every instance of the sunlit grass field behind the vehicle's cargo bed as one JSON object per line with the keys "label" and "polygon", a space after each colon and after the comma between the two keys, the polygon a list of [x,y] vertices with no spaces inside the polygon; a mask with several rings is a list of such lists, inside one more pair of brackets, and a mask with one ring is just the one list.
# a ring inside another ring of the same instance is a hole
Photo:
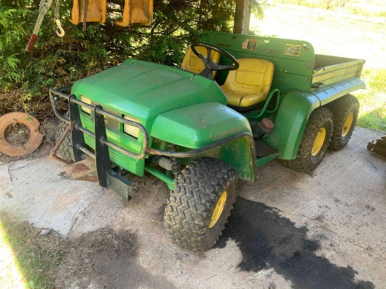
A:
{"label": "sunlit grass field behind the vehicle's cargo bed", "polygon": [[[293,5],[299,2],[303,6]],[[344,7],[329,10],[324,6],[325,0],[274,0],[273,3],[277,5],[265,9],[265,18],[251,19],[251,31],[309,41],[318,54],[366,60],[362,79],[367,90],[352,93],[361,105],[358,125],[386,131],[384,1],[351,0]],[[352,7],[357,7],[355,13]]]}

